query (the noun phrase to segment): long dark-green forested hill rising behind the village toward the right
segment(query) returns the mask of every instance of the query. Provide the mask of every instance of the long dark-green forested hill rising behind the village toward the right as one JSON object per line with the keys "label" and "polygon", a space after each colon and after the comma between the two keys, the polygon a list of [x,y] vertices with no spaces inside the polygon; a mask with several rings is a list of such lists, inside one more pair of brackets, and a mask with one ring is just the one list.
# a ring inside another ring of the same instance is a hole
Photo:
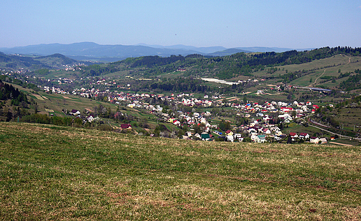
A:
{"label": "long dark-green forested hill rising behind the village toward the right", "polygon": [[[127,58],[119,62],[113,62],[106,67],[88,67],[84,70],[85,75],[102,75],[119,71],[120,65],[136,68],[146,67],[142,74],[151,76],[153,74],[167,73],[177,69],[192,69],[191,73],[215,73],[217,78],[229,79],[235,76],[251,76],[253,71],[285,64],[303,64],[330,58],[334,55],[361,55],[361,48],[351,47],[324,47],[312,51],[286,51],[283,53],[235,53],[224,57],[207,58],[203,55],[172,55],[162,58],[160,56],[144,56],[139,58]],[[90,74],[92,73],[92,74]],[[190,73],[189,73],[190,74]]]}

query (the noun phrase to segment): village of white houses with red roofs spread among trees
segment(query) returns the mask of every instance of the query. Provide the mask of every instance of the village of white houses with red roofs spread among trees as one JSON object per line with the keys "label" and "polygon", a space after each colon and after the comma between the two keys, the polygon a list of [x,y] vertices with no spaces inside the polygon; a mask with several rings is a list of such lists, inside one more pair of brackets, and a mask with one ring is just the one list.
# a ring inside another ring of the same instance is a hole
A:
{"label": "village of white houses with red roofs spread among trees", "polygon": [[[221,95],[205,95],[203,98],[195,98],[193,94],[185,93],[164,96],[162,94],[145,93],[110,93],[99,89],[84,88],[72,91],[72,94],[85,98],[101,97],[101,100],[115,105],[123,105],[131,109],[144,109],[146,112],[157,116],[158,123],[174,125],[182,129],[186,128],[184,134],[177,136],[181,139],[229,142],[251,141],[255,143],[281,140],[287,140],[287,143],[328,142],[324,137],[312,136],[312,134],[306,132],[299,134],[289,132],[285,134],[282,132],[283,128],[279,126],[294,121],[304,123],[305,118],[310,114],[314,114],[319,108],[318,105],[311,102],[299,103],[294,101],[293,103],[285,103],[269,101],[263,104],[241,103],[240,100],[236,100],[238,102],[226,100]],[[217,108],[231,109],[235,113],[234,118],[244,118],[246,123],[235,125],[229,121],[228,127],[221,128],[219,124],[222,121],[227,121],[221,120],[221,117],[213,112]],[[197,109],[205,111],[197,112]],[[69,114],[81,116],[81,112],[78,110],[72,110]],[[88,116],[83,116],[84,123],[92,123],[94,119],[99,121],[99,118],[91,113]],[[120,128],[126,131],[133,130],[130,123],[122,123]],[[155,134],[150,132],[150,136],[155,136]],[[331,137],[331,139],[334,139],[334,137]]]}

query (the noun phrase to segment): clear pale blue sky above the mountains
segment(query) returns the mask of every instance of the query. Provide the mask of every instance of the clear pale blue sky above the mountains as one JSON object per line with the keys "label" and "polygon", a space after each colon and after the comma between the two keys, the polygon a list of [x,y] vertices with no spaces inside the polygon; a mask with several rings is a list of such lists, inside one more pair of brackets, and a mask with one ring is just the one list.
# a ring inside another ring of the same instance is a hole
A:
{"label": "clear pale blue sky above the mountains", "polygon": [[361,1],[355,0],[1,0],[0,12],[0,47],[361,47]]}

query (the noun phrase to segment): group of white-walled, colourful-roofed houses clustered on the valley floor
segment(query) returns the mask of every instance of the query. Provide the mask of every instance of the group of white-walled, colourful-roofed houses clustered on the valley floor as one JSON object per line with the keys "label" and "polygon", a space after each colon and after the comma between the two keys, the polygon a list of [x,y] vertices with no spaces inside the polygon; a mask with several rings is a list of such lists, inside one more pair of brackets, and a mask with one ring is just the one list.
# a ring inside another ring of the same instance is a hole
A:
{"label": "group of white-walled, colourful-roofed houses clustered on the valley floor", "polygon": [[[101,93],[99,89],[92,89],[87,91],[81,89],[83,96],[96,96]],[[187,107],[233,107],[237,110],[237,115],[249,118],[248,125],[241,125],[240,127],[234,128],[234,131],[240,131],[240,133],[229,134],[217,134],[219,129],[218,125],[210,123],[212,118],[211,110],[203,113],[183,113],[178,111],[176,115],[169,114],[163,110],[161,105],[154,105],[145,103],[145,98],[156,98],[157,100],[166,101],[170,105],[184,105]],[[291,136],[292,141],[310,141],[311,143],[324,143],[325,139],[310,136],[306,133],[290,133],[283,134],[280,128],[274,124],[274,118],[282,123],[291,123],[296,118],[304,118],[309,114],[312,114],[318,109],[317,105],[310,102],[298,102],[293,103],[285,102],[265,102],[260,103],[232,103],[230,100],[222,99],[220,96],[208,96],[205,95],[203,98],[194,98],[192,94],[171,94],[170,96],[164,96],[162,94],[129,94],[120,92],[112,96],[108,96],[107,100],[115,104],[128,103],[127,107],[148,109],[150,113],[159,116],[161,121],[171,123],[173,125],[183,127],[190,127],[191,132],[183,136],[184,139],[202,139],[202,140],[214,140],[224,139],[224,141],[243,141],[244,136],[249,136],[251,141],[257,143],[263,143],[267,139],[280,140],[285,139],[286,136]],[[76,113],[74,113],[76,115]],[[276,117],[275,117],[276,116]],[[255,119],[256,118],[256,119]],[[88,122],[94,121],[94,116],[89,116],[86,119]],[[271,123],[272,122],[272,123]],[[194,125],[202,127],[201,133],[192,133]],[[208,135],[207,135],[208,134]]]}

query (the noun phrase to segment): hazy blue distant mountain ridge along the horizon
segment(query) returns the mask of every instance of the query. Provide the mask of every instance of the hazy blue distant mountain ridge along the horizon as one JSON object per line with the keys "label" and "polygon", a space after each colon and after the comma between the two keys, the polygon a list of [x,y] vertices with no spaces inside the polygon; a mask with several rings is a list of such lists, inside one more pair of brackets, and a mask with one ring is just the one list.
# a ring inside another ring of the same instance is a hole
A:
{"label": "hazy blue distant mountain ridge along the horizon", "polygon": [[94,42],[80,42],[73,44],[36,44],[29,46],[17,46],[13,48],[0,48],[0,51],[8,54],[24,55],[53,55],[60,53],[69,58],[76,60],[105,60],[115,61],[125,58],[158,55],[169,57],[170,55],[191,55],[201,54],[208,56],[225,56],[240,52],[265,52],[265,51],[291,51],[292,48],[267,48],[267,47],[250,47],[250,48],[225,48],[222,46],[195,47],[185,46],[182,44],[174,46],[160,45],[121,45],[121,44],[96,44]]}

